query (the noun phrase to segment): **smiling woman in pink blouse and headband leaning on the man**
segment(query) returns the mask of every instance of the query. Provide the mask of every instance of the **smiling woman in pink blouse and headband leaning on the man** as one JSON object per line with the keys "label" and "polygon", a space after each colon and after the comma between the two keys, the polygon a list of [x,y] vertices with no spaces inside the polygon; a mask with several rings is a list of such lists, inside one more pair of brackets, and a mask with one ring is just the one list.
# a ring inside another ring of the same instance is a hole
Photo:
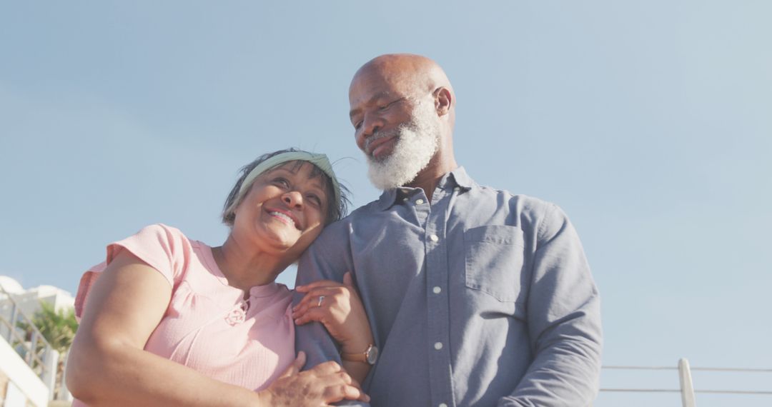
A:
{"label": "smiling woman in pink blouse and headband leaning on the man", "polygon": [[326,156],[283,150],[242,169],[225,202],[231,230],[222,246],[162,224],[110,244],[76,299],[83,318],[67,365],[76,405],[367,400],[357,384],[366,364],[344,362],[344,370],[327,362],[300,372],[305,356],[295,356],[293,318],[322,321],[338,333],[342,352],[373,342],[350,282],[325,283],[336,298],[324,307],[324,298],[309,299],[313,313],[295,314],[289,290],[274,282],[340,218],[345,202]]}

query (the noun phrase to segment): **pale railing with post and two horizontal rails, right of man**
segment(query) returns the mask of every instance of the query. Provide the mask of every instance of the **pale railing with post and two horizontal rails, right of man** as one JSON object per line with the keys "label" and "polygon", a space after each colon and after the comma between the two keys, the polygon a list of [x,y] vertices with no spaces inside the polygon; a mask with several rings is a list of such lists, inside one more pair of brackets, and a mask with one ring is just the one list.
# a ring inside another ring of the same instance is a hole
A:
{"label": "pale railing with post and two horizontal rails, right of man", "polygon": [[767,368],[690,368],[689,361],[682,358],[678,366],[603,366],[605,370],[677,370],[679,372],[679,389],[646,389],[646,388],[601,388],[601,392],[631,392],[631,393],[680,393],[682,407],[696,407],[695,395],[723,394],[723,395],[772,395],[768,390],[726,390],[726,389],[694,389],[692,384],[692,372],[750,372],[772,373]]}

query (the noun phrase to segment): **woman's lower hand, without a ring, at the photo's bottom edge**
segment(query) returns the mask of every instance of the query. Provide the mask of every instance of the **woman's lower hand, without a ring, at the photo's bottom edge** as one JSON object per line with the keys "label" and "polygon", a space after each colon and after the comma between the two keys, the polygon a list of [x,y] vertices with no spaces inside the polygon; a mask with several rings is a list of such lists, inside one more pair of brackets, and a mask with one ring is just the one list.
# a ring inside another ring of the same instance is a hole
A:
{"label": "woman's lower hand, without a ring, at the photo's bottom edge", "polygon": [[306,354],[298,353],[295,362],[268,389],[259,392],[261,405],[329,405],[343,399],[369,402],[357,382],[335,362],[324,362],[306,372],[300,368]]}

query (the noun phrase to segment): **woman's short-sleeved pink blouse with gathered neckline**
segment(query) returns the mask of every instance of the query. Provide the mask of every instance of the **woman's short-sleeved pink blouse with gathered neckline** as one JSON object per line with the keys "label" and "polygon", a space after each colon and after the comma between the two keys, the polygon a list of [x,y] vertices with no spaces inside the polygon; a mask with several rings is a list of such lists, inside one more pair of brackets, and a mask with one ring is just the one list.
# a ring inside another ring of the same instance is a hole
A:
{"label": "woman's short-sleeved pink blouse with gathered neckline", "polygon": [[[295,358],[292,298],[283,284],[244,292],[228,285],[212,247],[163,224],[107,246],[107,261],[80,279],[76,315],[107,263],[130,251],[171,284],[169,306],[144,349],[208,377],[247,389],[265,389]],[[81,404],[82,405],[82,404]]]}

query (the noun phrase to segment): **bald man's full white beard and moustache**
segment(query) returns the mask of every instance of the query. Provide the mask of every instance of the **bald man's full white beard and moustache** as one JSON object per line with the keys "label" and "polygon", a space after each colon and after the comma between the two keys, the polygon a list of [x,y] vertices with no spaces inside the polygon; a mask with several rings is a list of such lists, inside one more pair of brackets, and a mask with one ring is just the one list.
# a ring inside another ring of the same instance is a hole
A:
{"label": "bald man's full white beard and moustache", "polygon": [[439,146],[439,122],[433,106],[425,103],[415,106],[412,119],[380,137],[398,135],[394,150],[382,160],[367,155],[367,177],[379,190],[401,187],[415,180],[432,160]]}

